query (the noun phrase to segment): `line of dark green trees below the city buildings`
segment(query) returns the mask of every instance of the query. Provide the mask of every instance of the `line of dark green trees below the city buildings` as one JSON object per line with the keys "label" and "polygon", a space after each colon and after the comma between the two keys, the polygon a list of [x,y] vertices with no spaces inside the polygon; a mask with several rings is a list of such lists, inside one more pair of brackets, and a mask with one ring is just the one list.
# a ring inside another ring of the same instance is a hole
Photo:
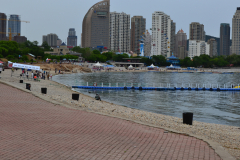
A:
{"label": "line of dark green trees below the city buildings", "polygon": [[[27,61],[27,54],[31,53],[35,57],[40,56],[44,60],[49,59],[77,59],[77,56],[64,55],[64,56],[53,56],[44,54],[45,51],[52,51],[51,47],[47,42],[43,42],[41,46],[38,46],[37,41],[26,41],[24,43],[17,43],[15,41],[0,41],[0,58],[7,58],[8,60],[20,60]],[[100,53],[98,50],[91,50],[90,48],[81,48],[76,46],[72,51],[82,54],[82,57],[89,62],[109,62],[123,61],[123,58],[140,58],[140,62],[146,66],[154,64],[155,66],[169,66],[170,63],[166,61],[166,58],[162,55],[152,56],[151,58],[146,57],[129,57],[128,54],[116,54],[114,51]],[[229,56],[218,56],[210,57],[208,55],[200,55],[193,57],[192,59],[186,57],[180,59],[180,66],[182,67],[226,67],[226,66],[240,66],[240,55],[229,55]]]}

